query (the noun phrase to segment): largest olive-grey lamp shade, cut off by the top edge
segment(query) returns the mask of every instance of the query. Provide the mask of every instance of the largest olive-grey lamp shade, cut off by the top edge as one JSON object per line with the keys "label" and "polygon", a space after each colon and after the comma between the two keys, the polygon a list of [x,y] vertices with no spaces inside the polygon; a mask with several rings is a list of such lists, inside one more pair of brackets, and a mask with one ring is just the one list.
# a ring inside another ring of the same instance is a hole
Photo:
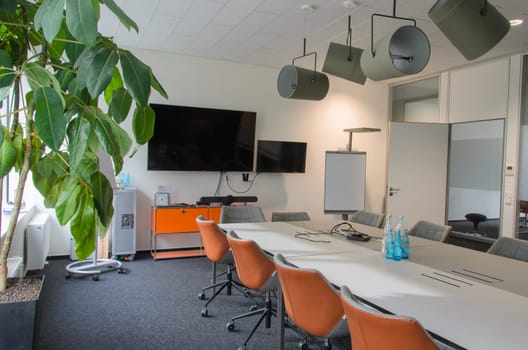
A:
{"label": "largest olive-grey lamp shade, cut off by the top edge", "polygon": [[438,0],[429,17],[467,60],[488,52],[510,30],[510,22],[489,2],[481,14],[482,0]]}

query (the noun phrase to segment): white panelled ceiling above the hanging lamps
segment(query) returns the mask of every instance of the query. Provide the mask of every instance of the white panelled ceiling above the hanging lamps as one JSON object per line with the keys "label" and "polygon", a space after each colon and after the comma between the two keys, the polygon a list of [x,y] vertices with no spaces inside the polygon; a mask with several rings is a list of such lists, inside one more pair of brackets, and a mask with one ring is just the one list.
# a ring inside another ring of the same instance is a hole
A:
{"label": "white panelled ceiling above the hanging lamps", "polygon": [[[353,0],[117,0],[139,26],[128,32],[107,10],[99,30],[126,48],[141,48],[213,58],[280,69],[306,52],[318,53],[321,70],[330,42],[345,44],[348,16],[352,18],[352,45],[370,49],[371,15],[392,15],[393,1]],[[431,58],[420,75],[429,75],[467,64],[468,61],[431,22],[427,13],[435,0],[399,0],[396,15],[416,19],[428,36]],[[512,27],[506,37],[478,60],[528,52],[526,0],[492,0],[508,19],[524,24]],[[311,5],[313,10],[302,9]],[[375,17],[374,40],[409,22]],[[306,62],[304,62],[306,61]],[[296,64],[313,67],[313,56]]]}

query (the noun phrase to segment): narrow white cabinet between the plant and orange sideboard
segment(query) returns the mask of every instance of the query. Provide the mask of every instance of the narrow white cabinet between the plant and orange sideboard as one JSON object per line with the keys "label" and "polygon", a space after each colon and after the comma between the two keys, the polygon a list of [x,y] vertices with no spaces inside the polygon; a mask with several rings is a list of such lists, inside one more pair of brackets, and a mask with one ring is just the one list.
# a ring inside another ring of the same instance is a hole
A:
{"label": "narrow white cabinet between the plant and orange sideboard", "polygon": [[136,189],[114,190],[112,256],[136,254]]}

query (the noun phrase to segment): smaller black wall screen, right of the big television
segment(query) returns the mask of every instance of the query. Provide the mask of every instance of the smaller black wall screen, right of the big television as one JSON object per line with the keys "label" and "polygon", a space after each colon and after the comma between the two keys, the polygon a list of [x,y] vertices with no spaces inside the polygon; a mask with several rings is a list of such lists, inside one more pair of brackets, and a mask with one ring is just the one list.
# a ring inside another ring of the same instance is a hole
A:
{"label": "smaller black wall screen, right of the big television", "polygon": [[257,142],[257,172],[304,173],[305,165],[306,142]]}

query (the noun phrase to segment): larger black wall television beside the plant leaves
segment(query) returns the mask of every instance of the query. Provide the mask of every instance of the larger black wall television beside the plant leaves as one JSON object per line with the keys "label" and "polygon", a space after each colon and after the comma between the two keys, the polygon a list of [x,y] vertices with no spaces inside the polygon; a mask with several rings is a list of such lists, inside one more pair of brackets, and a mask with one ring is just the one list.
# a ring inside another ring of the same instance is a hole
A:
{"label": "larger black wall television beside the plant leaves", "polygon": [[151,106],[148,170],[253,171],[255,112]]}

